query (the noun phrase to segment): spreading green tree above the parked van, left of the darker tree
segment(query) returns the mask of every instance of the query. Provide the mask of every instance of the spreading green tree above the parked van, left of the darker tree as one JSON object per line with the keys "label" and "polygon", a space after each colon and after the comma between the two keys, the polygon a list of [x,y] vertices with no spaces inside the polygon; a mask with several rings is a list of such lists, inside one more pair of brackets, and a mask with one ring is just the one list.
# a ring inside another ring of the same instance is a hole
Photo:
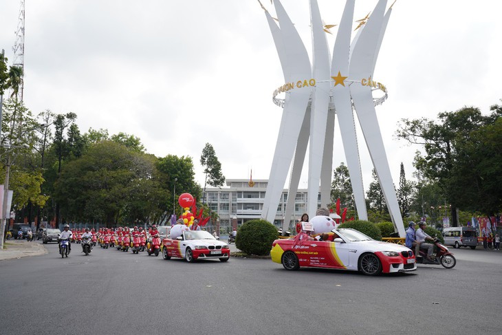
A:
{"label": "spreading green tree above the parked van, left of the darker tree", "polygon": [[[446,201],[451,204],[452,225],[457,226],[457,208],[461,209],[460,190],[452,177],[455,167],[458,166],[459,150],[463,150],[462,143],[470,143],[472,132],[479,130],[501,116],[500,109],[492,109],[492,114],[483,116],[479,109],[463,107],[455,112],[442,112],[438,120],[420,118],[416,120],[402,119],[396,135],[411,144],[424,147],[424,174],[430,180],[435,180],[443,193]],[[465,146],[463,146],[465,147]]]}

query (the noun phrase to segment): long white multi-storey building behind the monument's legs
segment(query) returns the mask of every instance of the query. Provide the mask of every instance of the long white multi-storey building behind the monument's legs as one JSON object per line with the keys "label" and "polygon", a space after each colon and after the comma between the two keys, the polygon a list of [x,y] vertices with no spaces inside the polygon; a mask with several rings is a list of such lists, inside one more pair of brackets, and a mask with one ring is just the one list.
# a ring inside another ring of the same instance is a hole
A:
{"label": "long white multi-storey building behind the monument's legs", "polygon": [[[245,221],[261,218],[267,184],[268,180],[228,179],[226,186],[222,188],[206,187],[206,204],[211,210],[218,213],[219,228],[222,234],[241,226]],[[277,228],[283,226],[286,202],[287,189],[283,189],[273,222]],[[320,204],[320,195],[318,195],[318,204]],[[294,202],[294,213],[290,217],[290,231],[294,229],[295,221],[300,219],[306,209],[307,189],[298,189]],[[314,215],[315,213],[309,213],[309,217]]]}

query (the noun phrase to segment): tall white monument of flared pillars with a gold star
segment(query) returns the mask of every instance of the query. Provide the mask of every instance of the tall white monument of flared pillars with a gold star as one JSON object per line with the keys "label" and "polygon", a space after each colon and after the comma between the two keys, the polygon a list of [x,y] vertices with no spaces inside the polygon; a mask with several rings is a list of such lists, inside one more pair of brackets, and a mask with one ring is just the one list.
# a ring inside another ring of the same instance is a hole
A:
{"label": "tall white monument of flared pillars with a gold star", "polygon": [[[285,84],[276,89],[273,96],[274,103],[283,107],[283,116],[262,217],[270,222],[274,221],[287,173],[292,165],[283,225],[283,230],[287,230],[309,141],[307,213],[311,217],[315,215],[319,189],[321,206],[327,206],[331,202],[334,127],[335,116],[338,116],[358,217],[368,219],[353,116],[353,111],[356,111],[391,219],[397,232],[404,237],[402,217],[375,111],[375,105],[386,100],[387,91],[384,85],[373,79],[392,6],[385,11],[387,1],[378,1],[371,15],[359,20],[356,36],[351,41],[354,2],[355,0],[347,0],[345,4],[331,57],[325,33],[327,27],[320,18],[317,1],[309,1],[312,66],[305,45],[281,1],[273,1],[279,25],[261,5],[265,10],[285,80]],[[285,98],[277,97],[281,93],[285,94]],[[373,93],[377,97],[373,97]]]}

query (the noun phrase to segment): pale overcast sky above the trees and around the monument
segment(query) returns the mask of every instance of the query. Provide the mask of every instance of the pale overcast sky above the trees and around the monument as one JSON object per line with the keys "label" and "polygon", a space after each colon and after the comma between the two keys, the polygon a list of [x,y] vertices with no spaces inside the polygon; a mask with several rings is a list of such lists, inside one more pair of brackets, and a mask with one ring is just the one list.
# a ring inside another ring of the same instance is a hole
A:
{"label": "pale overcast sky above the trees and around the monument", "polygon": [[[262,3],[275,17],[270,0]],[[311,52],[308,1],[282,3]],[[325,23],[338,24],[345,1],[318,3]],[[354,20],[376,3],[356,1]],[[0,0],[0,49],[10,61],[19,4]],[[377,114],[395,184],[401,162],[412,178],[419,149],[395,138],[401,118],[436,118],[466,105],[488,114],[500,103],[501,14],[502,1],[492,0],[393,6],[373,78],[389,91]],[[268,179],[282,113],[272,92],[280,85],[279,57],[256,0],[25,3],[25,105],[35,115],[72,111],[83,133],[138,136],[159,157],[190,156],[200,184],[206,142],[227,179],[248,178],[251,169],[254,180]],[[368,188],[372,164],[361,134],[358,142]],[[334,156],[334,168],[345,162],[340,136]]]}

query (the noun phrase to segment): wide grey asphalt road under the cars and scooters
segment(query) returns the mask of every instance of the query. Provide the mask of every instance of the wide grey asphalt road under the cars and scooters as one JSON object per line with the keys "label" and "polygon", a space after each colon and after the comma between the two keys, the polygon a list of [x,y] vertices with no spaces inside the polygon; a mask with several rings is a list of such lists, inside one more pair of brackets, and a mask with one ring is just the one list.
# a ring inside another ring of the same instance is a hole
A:
{"label": "wide grey asphalt road under the cars and scooters", "polygon": [[[38,242],[37,242],[38,243]],[[501,334],[502,253],[365,277],[73,245],[0,262],[0,334]]]}

